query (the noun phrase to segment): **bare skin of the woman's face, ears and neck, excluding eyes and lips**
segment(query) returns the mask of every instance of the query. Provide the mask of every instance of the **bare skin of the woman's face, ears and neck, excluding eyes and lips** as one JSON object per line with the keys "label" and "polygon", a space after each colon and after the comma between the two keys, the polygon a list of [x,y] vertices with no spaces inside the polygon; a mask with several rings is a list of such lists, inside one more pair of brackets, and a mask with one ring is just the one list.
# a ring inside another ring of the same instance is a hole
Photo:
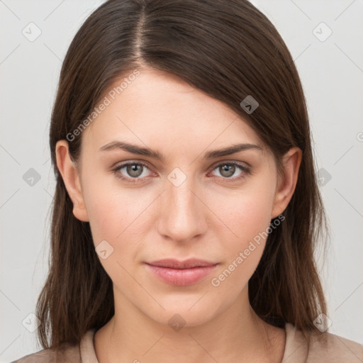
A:
{"label": "bare skin of the woman's face, ears and neck, excluding eyes and lips", "polygon": [[[99,150],[114,140],[157,150],[164,162]],[[205,152],[237,143],[262,150],[203,160]],[[144,68],[84,130],[77,164],[67,141],[60,140],[56,152],[74,216],[90,223],[95,246],[106,240],[113,247],[100,258],[115,303],[115,315],[94,337],[100,363],[281,362],[284,330],[264,323],[248,300],[247,282],[266,241],[219,286],[211,279],[284,211],[294,194],[300,149],[284,155],[279,177],[272,154],[240,116],[181,79]],[[128,160],[147,164],[135,184],[116,176],[133,179],[126,167],[111,170]],[[223,171],[220,164],[233,161],[250,173]],[[179,186],[167,178],[175,167],[186,177]],[[143,263],[167,257],[218,266],[194,285],[171,286]],[[186,323],[179,331],[168,324],[176,313]]]}

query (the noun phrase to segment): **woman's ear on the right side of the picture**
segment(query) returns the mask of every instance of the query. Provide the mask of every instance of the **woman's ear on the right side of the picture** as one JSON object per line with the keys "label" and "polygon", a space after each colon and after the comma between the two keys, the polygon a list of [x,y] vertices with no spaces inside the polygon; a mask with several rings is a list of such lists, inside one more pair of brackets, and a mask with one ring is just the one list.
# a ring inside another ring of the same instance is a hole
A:
{"label": "woman's ear on the right side of the picture", "polygon": [[271,218],[276,218],[286,209],[294,194],[298,180],[298,169],[302,152],[299,147],[291,147],[282,158],[282,175],[278,177]]}

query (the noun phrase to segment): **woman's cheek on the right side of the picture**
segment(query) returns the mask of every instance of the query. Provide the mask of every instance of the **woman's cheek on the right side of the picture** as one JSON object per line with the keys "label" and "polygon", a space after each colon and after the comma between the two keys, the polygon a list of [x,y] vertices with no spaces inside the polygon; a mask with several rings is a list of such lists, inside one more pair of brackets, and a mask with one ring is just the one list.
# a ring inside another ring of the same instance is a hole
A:
{"label": "woman's cheek on the right side of the picture", "polygon": [[[224,259],[212,286],[237,294],[255,272],[271,222],[273,188],[267,180],[214,199],[213,208],[224,223],[219,228]],[[216,209],[218,205],[222,207]]]}

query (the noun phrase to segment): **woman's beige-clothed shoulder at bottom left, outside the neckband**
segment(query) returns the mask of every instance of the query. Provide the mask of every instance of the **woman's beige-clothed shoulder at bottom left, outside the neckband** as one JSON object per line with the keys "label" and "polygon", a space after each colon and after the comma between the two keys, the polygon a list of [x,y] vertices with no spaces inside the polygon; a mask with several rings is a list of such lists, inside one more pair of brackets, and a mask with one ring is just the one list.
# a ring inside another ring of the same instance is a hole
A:
{"label": "woman's beige-clothed shoulder at bottom left, outside the neckband", "polygon": [[65,344],[58,352],[44,349],[33,354],[28,354],[11,363],[82,363],[79,345]]}

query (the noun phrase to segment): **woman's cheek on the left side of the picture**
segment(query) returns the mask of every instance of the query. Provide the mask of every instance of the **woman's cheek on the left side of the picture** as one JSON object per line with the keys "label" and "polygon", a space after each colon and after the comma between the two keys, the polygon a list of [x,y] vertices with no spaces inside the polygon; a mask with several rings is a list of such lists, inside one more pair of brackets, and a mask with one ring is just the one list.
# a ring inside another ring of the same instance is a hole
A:
{"label": "woman's cheek on the left side of the picture", "polygon": [[116,286],[122,281],[121,290],[133,291],[135,284],[128,271],[142,245],[142,212],[150,202],[140,201],[140,194],[130,190],[107,188],[94,180],[84,189],[84,200],[101,265]]}

